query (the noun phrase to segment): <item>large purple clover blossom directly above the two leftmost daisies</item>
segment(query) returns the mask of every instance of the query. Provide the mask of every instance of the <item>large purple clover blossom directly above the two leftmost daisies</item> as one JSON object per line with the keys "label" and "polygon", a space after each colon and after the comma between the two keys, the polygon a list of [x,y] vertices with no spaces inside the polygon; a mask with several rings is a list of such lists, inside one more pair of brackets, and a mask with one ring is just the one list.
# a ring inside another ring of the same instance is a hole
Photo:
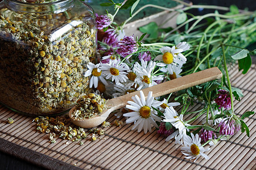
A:
{"label": "large purple clover blossom directly above the two leftmost daisies", "polygon": [[[118,42],[117,53],[125,58],[131,53],[135,53],[138,50],[137,42],[134,40],[133,36],[125,36],[122,40]],[[131,56],[127,57],[129,59]]]}

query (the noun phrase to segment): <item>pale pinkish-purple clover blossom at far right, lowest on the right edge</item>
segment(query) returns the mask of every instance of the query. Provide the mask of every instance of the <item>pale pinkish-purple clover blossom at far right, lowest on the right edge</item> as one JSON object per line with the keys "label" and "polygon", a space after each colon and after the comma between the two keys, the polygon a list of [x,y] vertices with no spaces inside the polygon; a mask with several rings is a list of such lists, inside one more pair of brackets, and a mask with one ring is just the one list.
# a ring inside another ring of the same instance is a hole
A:
{"label": "pale pinkish-purple clover blossom at far right, lowest on the right edge", "polygon": [[240,131],[241,124],[240,122],[236,121],[233,117],[226,117],[222,119],[220,124],[218,124],[218,127],[220,127],[219,132],[221,135],[233,135]]}

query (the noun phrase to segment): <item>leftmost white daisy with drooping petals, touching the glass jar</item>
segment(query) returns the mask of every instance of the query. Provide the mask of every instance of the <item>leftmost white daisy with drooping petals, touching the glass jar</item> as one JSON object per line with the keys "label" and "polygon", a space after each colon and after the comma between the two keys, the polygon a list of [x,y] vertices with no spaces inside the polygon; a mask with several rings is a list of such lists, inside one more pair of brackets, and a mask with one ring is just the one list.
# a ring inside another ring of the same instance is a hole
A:
{"label": "leftmost white daisy with drooping petals, touching the glass jar", "polygon": [[98,79],[100,79],[101,82],[104,83],[105,85],[108,84],[101,74],[100,63],[97,63],[97,65],[94,65],[94,63],[89,62],[87,67],[88,67],[88,70],[85,72],[84,76],[92,75],[92,77],[90,78],[90,85],[89,85],[90,88],[92,88],[93,85],[95,88],[98,87]]}

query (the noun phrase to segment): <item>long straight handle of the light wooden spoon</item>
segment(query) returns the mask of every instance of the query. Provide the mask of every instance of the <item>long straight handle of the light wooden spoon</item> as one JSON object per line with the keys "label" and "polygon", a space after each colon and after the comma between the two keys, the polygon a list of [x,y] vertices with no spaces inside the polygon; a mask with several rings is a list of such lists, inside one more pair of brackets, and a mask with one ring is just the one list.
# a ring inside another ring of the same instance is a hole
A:
{"label": "long straight handle of the light wooden spoon", "polygon": [[[221,71],[218,67],[212,67],[197,73],[181,76],[180,78],[170,80],[164,83],[157,84],[148,88],[144,88],[142,91],[144,96],[147,97],[148,92],[152,91],[154,97],[170,94],[171,92],[183,90],[188,87],[196,86],[210,80],[219,79],[222,77]],[[117,98],[110,99],[106,104],[110,108],[109,112],[115,111],[122,107],[125,107],[127,101],[131,100],[132,96],[139,95],[139,91],[132,92]],[[108,113],[109,114],[109,113]]]}

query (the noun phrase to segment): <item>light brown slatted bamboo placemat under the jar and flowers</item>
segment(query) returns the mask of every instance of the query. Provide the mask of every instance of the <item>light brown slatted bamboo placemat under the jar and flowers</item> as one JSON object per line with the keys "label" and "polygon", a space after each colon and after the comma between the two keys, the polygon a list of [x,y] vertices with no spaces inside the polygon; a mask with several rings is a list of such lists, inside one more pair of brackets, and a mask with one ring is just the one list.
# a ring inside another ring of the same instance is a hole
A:
{"label": "light brown slatted bamboo placemat under the jar and flowers", "polygon": [[[230,71],[230,76],[232,86],[240,88],[244,95],[240,102],[234,102],[238,116],[255,111],[255,63],[246,75],[238,72],[236,66]],[[194,111],[201,107],[201,104],[196,104],[189,109]],[[13,124],[6,123],[9,117],[14,119]],[[201,156],[193,162],[184,159],[181,146],[175,145],[174,140],[166,142],[166,138],[155,129],[152,133],[137,133],[131,130],[131,124],[104,128],[106,132],[102,139],[82,139],[84,145],[72,141],[67,143],[68,140],[60,138],[51,143],[48,134],[36,131],[33,117],[0,105],[0,150],[48,169],[256,169],[255,118],[254,114],[244,120],[249,126],[250,138],[246,133],[233,135],[229,141],[221,141],[206,152],[209,160]],[[204,119],[205,116],[201,116],[192,124],[201,124]],[[113,123],[114,120],[125,122],[125,118],[116,118],[112,113],[107,121]]]}

